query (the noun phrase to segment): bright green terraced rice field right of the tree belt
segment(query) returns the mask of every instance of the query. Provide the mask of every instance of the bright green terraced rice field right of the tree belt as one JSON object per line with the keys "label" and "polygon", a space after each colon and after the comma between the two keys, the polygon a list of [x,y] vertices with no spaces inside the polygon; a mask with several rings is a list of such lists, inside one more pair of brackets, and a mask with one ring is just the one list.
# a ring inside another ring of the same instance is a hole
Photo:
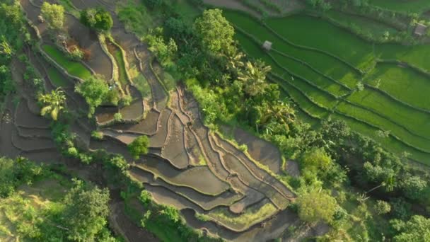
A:
{"label": "bright green terraced rice field right of the tree belt", "polygon": [[[262,23],[238,11],[223,13],[245,52],[272,67],[270,79],[306,120],[331,115],[390,151],[430,164],[430,45],[373,45],[301,14]],[[273,43],[269,52],[260,47],[265,40]]]}

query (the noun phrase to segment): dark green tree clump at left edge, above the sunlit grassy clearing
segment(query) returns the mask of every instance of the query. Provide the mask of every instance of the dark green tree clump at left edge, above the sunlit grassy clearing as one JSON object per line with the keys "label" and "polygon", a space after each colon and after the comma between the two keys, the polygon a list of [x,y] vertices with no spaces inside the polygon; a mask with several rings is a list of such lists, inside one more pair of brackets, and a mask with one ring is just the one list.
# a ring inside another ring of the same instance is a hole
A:
{"label": "dark green tree clump at left edge, above the sunlit grassy clearing", "polygon": [[37,166],[28,159],[0,158],[0,198],[8,197],[18,185],[30,184],[44,175],[42,166]]}

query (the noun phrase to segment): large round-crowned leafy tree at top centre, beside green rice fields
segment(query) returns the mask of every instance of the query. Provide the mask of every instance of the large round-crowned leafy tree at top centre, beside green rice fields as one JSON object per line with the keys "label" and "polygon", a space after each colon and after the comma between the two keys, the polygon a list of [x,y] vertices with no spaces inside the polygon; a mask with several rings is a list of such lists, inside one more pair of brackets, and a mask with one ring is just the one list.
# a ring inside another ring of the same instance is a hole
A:
{"label": "large round-crowned leafy tree at top centre, beside green rice fields", "polygon": [[233,44],[234,28],[222,16],[220,9],[209,9],[194,22],[194,31],[204,49],[211,54],[221,54]]}

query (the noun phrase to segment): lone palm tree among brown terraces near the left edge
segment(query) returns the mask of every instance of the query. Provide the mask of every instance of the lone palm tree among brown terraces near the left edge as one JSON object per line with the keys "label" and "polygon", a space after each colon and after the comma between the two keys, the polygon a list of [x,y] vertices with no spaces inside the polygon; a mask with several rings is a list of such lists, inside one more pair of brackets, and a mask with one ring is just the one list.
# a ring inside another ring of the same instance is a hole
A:
{"label": "lone palm tree among brown terraces near the left edge", "polygon": [[58,119],[59,112],[64,109],[66,103],[66,95],[59,88],[52,90],[51,93],[40,94],[37,99],[43,105],[40,115],[45,116],[50,113],[52,120]]}

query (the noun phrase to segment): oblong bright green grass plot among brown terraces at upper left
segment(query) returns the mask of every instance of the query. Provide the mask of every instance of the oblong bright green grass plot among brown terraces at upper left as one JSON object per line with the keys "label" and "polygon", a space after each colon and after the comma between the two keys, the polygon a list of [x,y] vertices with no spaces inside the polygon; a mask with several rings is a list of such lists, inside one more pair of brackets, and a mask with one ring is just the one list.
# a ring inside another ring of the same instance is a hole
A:
{"label": "oblong bright green grass plot among brown terraces at upper left", "polygon": [[68,59],[64,53],[56,47],[52,45],[43,45],[42,49],[72,76],[77,76],[83,80],[91,76],[91,72],[83,64]]}

